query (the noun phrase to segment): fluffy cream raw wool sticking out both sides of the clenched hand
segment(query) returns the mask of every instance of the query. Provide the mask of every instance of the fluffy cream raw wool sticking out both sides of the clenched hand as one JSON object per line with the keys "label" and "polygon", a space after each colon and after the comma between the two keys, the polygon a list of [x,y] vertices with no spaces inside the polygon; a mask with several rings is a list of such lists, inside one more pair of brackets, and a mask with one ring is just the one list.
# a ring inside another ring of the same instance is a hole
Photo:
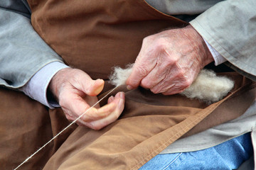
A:
{"label": "fluffy cream raw wool sticking out both sides of the clenched hand", "polygon": [[[110,83],[115,86],[125,84],[132,73],[133,64],[127,65],[126,69],[114,67],[114,72],[110,76]],[[188,98],[197,98],[206,103],[220,101],[228,92],[233,89],[234,81],[228,77],[220,77],[212,70],[202,69],[198,77],[193,81],[181,95]]]}

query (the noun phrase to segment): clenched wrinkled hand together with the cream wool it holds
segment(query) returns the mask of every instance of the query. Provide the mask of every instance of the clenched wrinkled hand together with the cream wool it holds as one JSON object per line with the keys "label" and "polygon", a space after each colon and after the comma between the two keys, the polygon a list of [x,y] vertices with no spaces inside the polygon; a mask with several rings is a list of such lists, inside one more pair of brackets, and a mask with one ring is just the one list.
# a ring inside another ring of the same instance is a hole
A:
{"label": "clenched wrinkled hand together with the cream wool it holds", "polygon": [[182,94],[212,103],[234,86],[227,77],[203,69],[212,61],[203,38],[192,26],[165,30],[144,38],[136,62],[127,69],[116,67],[110,81],[116,86],[127,84],[127,89],[142,86],[154,94]]}

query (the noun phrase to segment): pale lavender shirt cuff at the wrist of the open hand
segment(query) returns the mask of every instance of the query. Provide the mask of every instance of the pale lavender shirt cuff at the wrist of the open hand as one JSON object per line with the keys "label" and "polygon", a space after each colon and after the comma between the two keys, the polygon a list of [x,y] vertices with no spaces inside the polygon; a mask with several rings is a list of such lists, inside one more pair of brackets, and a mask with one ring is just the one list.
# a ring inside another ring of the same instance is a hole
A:
{"label": "pale lavender shirt cuff at the wrist of the open hand", "polygon": [[28,83],[21,87],[20,90],[27,96],[39,101],[49,108],[59,107],[58,103],[50,103],[46,94],[48,85],[53,76],[60,71],[60,69],[67,67],[67,65],[61,62],[51,62],[36,72],[36,74],[34,74]]}

